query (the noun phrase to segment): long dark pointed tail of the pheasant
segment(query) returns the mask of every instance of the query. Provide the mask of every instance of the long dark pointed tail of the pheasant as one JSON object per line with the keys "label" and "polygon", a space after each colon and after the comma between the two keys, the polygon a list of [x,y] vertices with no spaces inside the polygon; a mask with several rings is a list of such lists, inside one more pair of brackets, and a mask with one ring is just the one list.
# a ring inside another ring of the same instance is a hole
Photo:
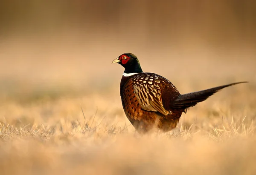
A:
{"label": "long dark pointed tail of the pheasant", "polygon": [[191,93],[188,93],[188,94],[180,95],[174,101],[172,107],[176,108],[176,109],[186,109],[186,108],[195,106],[197,103],[206,100],[211,95],[218,92],[219,90],[221,90],[223,88],[226,88],[226,87],[229,87],[229,86],[240,84],[240,83],[248,83],[248,82],[243,81],[243,82],[238,82],[238,83],[231,83],[231,84],[218,86],[218,87],[214,87],[214,88],[210,88],[210,89],[206,89],[206,90],[202,90],[202,91],[198,91],[198,92],[191,92]]}

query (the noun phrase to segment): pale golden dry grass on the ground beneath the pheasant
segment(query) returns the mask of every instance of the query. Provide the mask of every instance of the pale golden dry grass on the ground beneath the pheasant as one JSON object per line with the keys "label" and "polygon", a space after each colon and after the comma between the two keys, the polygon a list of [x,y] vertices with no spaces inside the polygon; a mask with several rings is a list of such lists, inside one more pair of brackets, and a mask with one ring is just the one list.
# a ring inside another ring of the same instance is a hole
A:
{"label": "pale golden dry grass on the ground beneath the pheasant", "polygon": [[1,174],[254,174],[255,109],[239,114],[217,101],[191,109],[174,131],[149,135],[134,131],[118,103],[84,116],[72,98],[48,104],[50,114],[44,104],[9,103],[27,114],[0,123]]}

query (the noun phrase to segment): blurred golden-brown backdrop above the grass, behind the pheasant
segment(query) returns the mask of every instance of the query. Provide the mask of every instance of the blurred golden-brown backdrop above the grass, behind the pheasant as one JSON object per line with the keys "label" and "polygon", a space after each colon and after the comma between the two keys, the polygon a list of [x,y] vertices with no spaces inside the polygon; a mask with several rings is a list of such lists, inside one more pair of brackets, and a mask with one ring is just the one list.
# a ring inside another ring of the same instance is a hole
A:
{"label": "blurred golden-brown backdrop above the grass, behind the pheasant", "polygon": [[255,80],[255,9],[252,0],[3,0],[1,88],[102,89],[119,80],[110,63],[124,52],[174,84]]}

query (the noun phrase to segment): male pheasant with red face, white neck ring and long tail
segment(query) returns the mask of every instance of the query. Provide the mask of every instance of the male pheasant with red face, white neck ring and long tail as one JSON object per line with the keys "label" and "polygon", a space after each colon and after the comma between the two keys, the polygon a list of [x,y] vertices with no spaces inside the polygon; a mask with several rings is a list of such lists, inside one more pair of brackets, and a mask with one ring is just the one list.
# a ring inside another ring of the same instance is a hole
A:
{"label": "male pheasant with red face, white neck ring and long tail", "polygon": [[239,83],[231,83],[198,92],[181,95],[166,78],[143,72],[138,58],[125,53],[113,60],[124,68],[120,95],[125,115],[138,132],[156,127],[163,132],[174,129],[182,112],[206,100],[219,90]]}

